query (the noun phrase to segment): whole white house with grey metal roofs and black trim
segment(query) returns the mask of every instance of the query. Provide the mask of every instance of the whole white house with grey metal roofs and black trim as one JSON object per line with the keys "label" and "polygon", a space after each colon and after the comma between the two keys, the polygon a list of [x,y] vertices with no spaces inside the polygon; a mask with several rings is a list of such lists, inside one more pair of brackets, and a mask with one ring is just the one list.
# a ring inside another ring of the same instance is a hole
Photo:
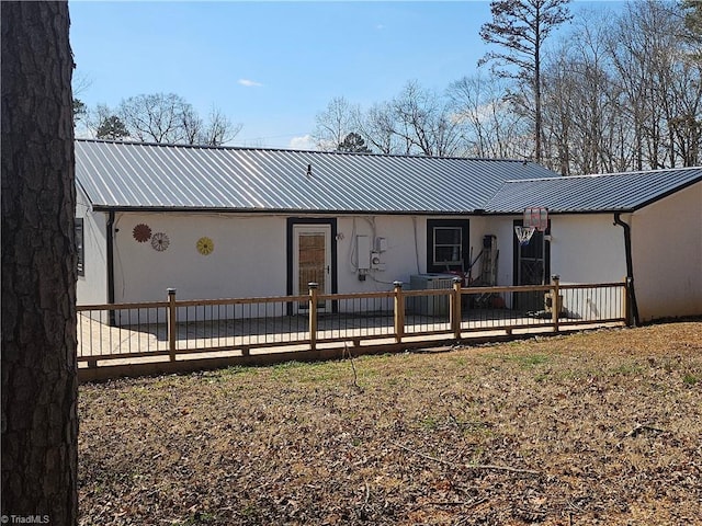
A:
{"label": "whole white house with grey metal roofs and black trim", "polygon": [[[205,299],[475,278],[489,245],[496,284],[633,272],[643,319],[702,313],[700,169],[566,180],[514,160],[77,140],[76,179],[80,304],[161,300],[170,287]],[[598,181],[616,183],[600,192]],[[529,244],[540,253],[516,243],[526,206],[550,209],[550,230]],[[652,237],[667,251],[656,263]],[[522,272],[528,260],[537,275]]]}

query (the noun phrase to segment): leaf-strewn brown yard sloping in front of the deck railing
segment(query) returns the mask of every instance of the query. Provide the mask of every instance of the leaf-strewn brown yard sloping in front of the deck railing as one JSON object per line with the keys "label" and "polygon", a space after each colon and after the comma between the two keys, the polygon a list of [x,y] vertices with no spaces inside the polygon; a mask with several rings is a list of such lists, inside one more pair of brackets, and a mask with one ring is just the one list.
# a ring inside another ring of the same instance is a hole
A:
{"label": "leaf-strewn brown yard sloping in front of the deck railing", "polygon": [[702,321],[80,389],[81,525],[702,525]]}

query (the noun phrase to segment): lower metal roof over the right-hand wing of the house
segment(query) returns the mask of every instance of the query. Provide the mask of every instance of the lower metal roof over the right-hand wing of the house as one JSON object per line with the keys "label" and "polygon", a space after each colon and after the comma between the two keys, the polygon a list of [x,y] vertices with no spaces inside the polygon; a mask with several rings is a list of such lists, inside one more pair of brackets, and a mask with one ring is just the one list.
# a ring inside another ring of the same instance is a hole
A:
{"label": "lower metal roof over the right-hand wing of the house", "polygon": [[635,211],[701,181],[702,168],[507,181],[485,211],[521,214],[529,206],[556,214]]}

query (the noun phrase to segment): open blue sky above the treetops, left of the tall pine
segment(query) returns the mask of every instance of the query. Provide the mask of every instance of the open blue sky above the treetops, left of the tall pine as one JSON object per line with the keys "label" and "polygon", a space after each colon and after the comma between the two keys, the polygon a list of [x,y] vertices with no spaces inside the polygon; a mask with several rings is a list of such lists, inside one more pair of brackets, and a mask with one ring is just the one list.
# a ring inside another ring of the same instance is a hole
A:
{"label": "open blue sky above the treetops, left of the tall pine", "polygon": [[[586,2],[577,2],[584,5]],[[443,90],[488,49],[484,1],[69,2],[76,94],[177,93],[244,125],[237,146],[312,148],[335,96],[367,107],[409,80]]]}

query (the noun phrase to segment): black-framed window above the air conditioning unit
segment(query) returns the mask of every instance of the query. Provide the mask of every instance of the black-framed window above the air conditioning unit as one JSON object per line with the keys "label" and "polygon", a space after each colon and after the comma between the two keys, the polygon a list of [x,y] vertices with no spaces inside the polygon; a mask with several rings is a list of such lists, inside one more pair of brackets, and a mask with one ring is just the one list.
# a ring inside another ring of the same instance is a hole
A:
{"label": "black-framed window above the air conditioning unit", "polygon": [[468,226],[467,219],[427,219],[427,272],[466,270]]}

